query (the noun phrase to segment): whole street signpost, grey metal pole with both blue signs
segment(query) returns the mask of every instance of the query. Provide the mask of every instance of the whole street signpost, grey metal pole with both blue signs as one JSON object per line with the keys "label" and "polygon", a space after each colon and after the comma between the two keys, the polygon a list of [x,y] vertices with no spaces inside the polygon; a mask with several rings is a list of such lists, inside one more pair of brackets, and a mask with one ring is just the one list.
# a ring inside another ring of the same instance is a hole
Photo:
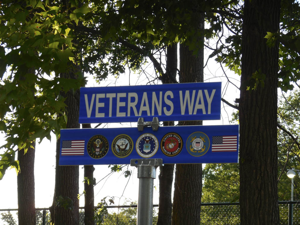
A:
{"label": "whole street signpost, grey metal pole with both blue signs", "polygon": [[79,123],[136,122],[137,128],[62,129],[59,165],[137,167],[137,225],[151,225],[153,180],[163,164],[237,163],[238,125],[167,126],[220,119],[221,82],[80,88]]}

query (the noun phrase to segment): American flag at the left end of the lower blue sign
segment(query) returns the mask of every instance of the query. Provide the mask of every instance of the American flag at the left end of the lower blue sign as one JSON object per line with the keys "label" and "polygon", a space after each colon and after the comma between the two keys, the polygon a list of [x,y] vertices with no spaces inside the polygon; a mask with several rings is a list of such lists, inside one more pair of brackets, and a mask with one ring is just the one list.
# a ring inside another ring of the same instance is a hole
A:
{"label": "American flag at the left end of the lower blue sign", "polygon": [[61,155],[84,155],[84,140],[62,141]]}

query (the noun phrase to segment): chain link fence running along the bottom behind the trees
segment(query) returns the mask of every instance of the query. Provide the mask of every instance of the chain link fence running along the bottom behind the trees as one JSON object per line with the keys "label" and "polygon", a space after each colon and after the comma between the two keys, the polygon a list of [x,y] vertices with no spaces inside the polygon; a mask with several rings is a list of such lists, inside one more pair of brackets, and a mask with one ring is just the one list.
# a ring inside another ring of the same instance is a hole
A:
{"label": "chain link fence running along the bottom behind the trees", "polygon": [[[290,209],[289,209],[290,206]],[[300,205],[298,202],[279,202],[280,225],[289,224],[289,212],[293,206],[293,223],[300,224]],[[101,225],[136,225],[137,205],[107,206],[107,214]],[[153,225],[157,223],[158,205],[153,207]],[[0,225],[17,225],[17,209],[0,209]],[[98,221],[100,222],[100,221]],[[36,210],[36,224],[50,225],[47,208]],[[239,225],[239,203],[202,203],[201,225]],[[84,209],[79,210],[79,225],[84,225]]]}

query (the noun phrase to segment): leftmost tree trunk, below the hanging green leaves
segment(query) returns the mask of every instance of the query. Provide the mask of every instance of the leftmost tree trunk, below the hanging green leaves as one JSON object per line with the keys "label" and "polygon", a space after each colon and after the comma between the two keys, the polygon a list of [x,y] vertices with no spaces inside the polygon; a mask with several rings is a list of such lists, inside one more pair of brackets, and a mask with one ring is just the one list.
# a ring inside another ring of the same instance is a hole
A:
{"label": "leftmost tree trunk, below the hanging green leaves", "polygon": [[35,142],[26,154],[18,151],[20,172],[17,176],[19,225],[35,225]]}

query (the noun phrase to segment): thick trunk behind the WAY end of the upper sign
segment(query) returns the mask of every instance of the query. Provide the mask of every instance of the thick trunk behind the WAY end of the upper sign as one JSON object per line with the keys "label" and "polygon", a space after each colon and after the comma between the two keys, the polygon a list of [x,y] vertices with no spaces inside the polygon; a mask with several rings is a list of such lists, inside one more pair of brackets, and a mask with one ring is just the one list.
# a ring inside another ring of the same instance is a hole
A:
{"label": "thick trunk behind the WAY end of the upper sign", "polygon": [[[198,12],[192,17],[198,19],[199,32],[203,32],[204,13]],[[203,37],[199,38],[203,41]],[[198,49],[198,54],[194,55],[188,46],[180,44],[179,80],[181,83],[203,82],[203,43],[202,47],[198,46]],[[202,125],[202,121],[185,121],[180,122],[179,125]],[[202,164],[176,164],[174,188],[172,225],[200,224]]]}

